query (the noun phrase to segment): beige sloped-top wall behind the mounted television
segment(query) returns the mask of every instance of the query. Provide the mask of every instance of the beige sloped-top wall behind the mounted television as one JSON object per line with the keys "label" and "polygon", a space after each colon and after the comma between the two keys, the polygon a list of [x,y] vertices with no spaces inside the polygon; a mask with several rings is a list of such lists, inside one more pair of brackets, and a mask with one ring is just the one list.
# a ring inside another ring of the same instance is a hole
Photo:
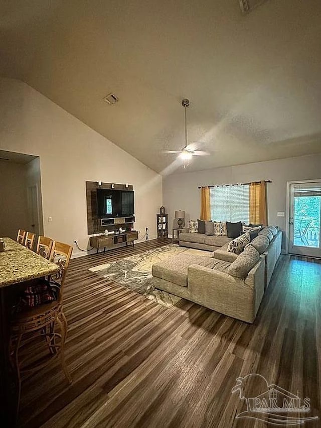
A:
{"label": "beige sloped-top wall behind the mounted television", "polygon": [[85,181],[102,180],[133,185],[135,228],[156,237],[162,177],[19,80],[0,79],[0,148],[40,156],[47,236],[87,248]]}

